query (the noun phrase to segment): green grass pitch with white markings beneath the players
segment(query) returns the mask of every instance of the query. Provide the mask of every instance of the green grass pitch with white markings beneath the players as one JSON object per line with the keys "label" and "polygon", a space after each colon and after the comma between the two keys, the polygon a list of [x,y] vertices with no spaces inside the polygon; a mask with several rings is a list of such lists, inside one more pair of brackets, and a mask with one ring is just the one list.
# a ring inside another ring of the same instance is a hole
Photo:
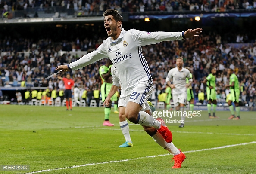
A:
{"label": "green grass pitch with white markings beneath the players", "polygon": [[0,165],[30,166],[0,174],[255,174],[256,112],[241,112],[241,120],[228,120],[228,111],[217,111],[219,119],[201,114],[184,128],[168,124],[187,156],[172,169],[172,155],[140,125],[129,122],[134,147],[119,148],[118,114],[109,118],[114,127],[103,127],[103,108],[0,105]]}

